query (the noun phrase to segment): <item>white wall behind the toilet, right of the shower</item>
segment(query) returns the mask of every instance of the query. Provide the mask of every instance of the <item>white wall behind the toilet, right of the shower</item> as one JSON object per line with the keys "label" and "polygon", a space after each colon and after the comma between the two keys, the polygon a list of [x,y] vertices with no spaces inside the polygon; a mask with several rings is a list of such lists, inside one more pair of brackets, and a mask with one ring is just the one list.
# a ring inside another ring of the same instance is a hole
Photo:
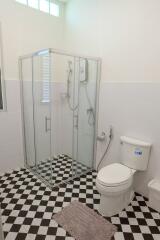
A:
{"label": "white wall behind the toilet, right of the shower", "polygon": [[114,128],[104,165],[119,161],[121,135],[153,143],[148,170],[135,178],[146,196],[149,179],[160,178],[159,11],[158,0],[70,0],[66,9],[66,48],[102,58],[99,134]]}

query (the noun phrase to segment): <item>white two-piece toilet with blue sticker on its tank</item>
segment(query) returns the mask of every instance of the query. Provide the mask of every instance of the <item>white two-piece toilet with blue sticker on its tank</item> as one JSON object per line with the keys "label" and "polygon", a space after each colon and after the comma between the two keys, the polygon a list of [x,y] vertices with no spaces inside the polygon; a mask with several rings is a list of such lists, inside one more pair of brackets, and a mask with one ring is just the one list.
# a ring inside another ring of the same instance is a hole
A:
{"label": "white two-piece toilet with blue sticker on its tank", "polygon": [[147,169],[150,149],[150,143],[121,137],[121,163],[102,168],[96,179],[97,190],[101,194],[99,212],[103,216],[118,214],[131,202],[134,196],[133,176],[137,170]]}

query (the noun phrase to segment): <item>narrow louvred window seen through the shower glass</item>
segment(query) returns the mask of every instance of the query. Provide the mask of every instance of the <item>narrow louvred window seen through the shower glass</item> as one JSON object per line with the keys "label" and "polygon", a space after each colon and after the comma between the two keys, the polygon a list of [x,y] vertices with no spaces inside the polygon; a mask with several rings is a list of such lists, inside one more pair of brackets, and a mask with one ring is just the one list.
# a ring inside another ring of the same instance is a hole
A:
{"label": "narrow louvred window seen through the shower glass", "polygon": [[50,56],[42,57],[42,102],[50,102]]}

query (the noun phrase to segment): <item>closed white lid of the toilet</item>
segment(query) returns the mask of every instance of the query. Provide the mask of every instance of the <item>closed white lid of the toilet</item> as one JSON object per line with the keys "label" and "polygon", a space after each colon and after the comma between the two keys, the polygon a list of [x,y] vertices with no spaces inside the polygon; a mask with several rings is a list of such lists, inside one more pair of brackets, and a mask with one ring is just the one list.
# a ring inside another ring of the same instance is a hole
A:
{"label": "closed white lid of the toilet", "polygon": [[117,186],[125,183],[133,175],[134,170],[119,164],[113,163],[102,168],[97,176],[98,181],[105,186]]}

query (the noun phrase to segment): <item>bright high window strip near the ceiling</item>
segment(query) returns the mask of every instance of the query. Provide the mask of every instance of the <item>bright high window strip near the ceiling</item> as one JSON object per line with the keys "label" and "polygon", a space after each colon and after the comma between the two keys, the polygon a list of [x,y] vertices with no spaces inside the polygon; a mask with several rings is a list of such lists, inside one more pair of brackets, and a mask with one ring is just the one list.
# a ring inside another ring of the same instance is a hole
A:
{"label": "bright high window strip near the ceiling", "polygon": [[56,17],[59,17],[60,15],[60,6],[56,3],[53,3],[52,0],[15,0],[15,1]]}

